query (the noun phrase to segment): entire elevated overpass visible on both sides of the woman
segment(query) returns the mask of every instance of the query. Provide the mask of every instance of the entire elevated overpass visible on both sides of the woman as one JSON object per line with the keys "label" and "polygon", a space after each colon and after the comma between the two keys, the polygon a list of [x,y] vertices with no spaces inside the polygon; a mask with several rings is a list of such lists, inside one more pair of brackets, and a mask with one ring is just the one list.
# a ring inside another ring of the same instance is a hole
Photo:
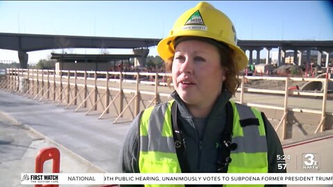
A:
{"label": "entire elevated overpass visible on both sides of the woman", "polygon": [[[135,55],[142,55],[139,61],[144,61],[148,55],[148,47],[156,46],[161,39],[126,38],[126,37],[86,37],[69,35],[34,35],[18,33],[0,33],[0,48],[18,51],[20,67],[26,69],[28,54],[55,48],[133,48]],[[285,63],[286,51],[293,50],[293,63],[301,64],[302,53],[306,53],[307,64],[310,63],[310,52],[318,51],[317,63],[321,64],[322,54],[326,55],[325,66],[328,66],[329,55],[333,51],[333,41],[311,40],[239,40],[238,45],[249,51],[249,64],[253,64],[253,51],[257,51],[257,63],[260,51],[266,48],[266,64],[269,62],[270,51],[278,48],[278,66]]]}

